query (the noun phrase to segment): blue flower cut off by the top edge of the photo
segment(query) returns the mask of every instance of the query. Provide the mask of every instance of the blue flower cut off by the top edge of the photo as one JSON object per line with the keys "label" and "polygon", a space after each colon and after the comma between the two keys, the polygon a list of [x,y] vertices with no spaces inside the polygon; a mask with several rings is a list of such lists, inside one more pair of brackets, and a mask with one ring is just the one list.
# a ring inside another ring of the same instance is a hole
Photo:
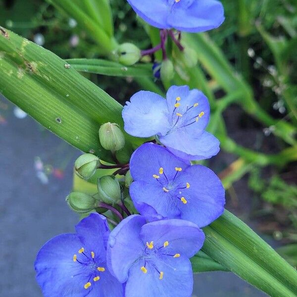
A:
{"label": "blue flower cut off by the top edge of the photo", "polygon": [[175,28],[203,32],[219,27],[224,7],[217,0],[128,0],[148,24],[160,29]]}

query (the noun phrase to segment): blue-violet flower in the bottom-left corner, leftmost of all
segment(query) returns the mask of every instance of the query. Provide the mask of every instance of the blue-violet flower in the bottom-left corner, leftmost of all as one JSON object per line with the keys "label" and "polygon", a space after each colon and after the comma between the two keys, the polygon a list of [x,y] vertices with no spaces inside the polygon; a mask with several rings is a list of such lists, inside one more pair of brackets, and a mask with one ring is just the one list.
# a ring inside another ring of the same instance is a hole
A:
{"label": "blue-violet flower in the bottom-left corner, leftmost of all", "polygon": [[106,219],[91,214],[76,227],[76,234],[49,240],[35,262],[37,282],[45,297],[120,297],[123,285],[106,266]]}

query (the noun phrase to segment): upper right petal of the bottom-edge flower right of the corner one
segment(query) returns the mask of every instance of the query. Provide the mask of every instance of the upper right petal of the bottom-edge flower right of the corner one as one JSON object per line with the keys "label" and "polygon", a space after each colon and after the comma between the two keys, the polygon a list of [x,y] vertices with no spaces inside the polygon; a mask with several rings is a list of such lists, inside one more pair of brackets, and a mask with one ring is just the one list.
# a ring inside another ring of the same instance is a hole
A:
{"label": "upper right petal of the bottom-edge flower right of the corner one", "polygon": [[[194,223],[180,219],[162,220],[144,225],[143,242],[151,242],[163,254],[194,256],[203,246],[205,235]],[[164,243],[168,246],[164,247]]]}

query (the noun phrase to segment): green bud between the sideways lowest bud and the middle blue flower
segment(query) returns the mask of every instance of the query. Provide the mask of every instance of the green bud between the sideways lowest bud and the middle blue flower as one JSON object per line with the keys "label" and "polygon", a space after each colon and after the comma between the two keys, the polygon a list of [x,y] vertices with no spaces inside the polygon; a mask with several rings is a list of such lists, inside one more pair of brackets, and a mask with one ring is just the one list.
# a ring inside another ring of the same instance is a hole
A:
{"label": "green bud between the sideways lowest bud and the middle blue flower", "polygon": [[120,184],[113,175],[105,175],[98,179],[98,195],[96,198],[107,204],[114,204],[121,199]]}

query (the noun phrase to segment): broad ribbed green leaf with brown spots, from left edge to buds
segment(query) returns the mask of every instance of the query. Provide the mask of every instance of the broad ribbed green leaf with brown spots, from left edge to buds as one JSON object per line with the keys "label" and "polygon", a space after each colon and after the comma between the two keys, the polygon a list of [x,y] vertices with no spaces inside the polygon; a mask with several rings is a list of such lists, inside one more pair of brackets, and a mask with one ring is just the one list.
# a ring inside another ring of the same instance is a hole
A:
{"label": "broad ribbed green leaf with brown spots, from left edge to buds", "polygon": [[109,121],[123,127],[122,105],[52,52],[2,30],[0,92],[71,145],[111,160],[98,130]]}

